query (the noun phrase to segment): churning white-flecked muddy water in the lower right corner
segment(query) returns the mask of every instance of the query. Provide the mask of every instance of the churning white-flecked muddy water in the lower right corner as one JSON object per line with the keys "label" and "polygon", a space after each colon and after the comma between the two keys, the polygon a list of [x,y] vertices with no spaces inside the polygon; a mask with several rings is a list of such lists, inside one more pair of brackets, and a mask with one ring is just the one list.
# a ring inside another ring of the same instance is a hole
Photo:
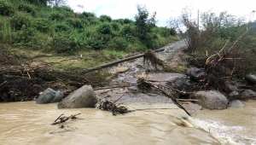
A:
{"label": "churning white-flecked muddy water in the lower right corner", "polygon": [[201,110],[193,113],[195,122],[211,132],[221,144],[256,144],[256,101],[246,107],[224,110]]}

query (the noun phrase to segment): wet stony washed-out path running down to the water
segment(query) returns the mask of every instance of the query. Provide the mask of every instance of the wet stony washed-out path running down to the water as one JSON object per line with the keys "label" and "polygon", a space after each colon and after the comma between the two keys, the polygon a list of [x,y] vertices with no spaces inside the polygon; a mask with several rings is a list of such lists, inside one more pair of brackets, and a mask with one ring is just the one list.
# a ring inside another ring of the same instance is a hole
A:
{"label": "wet stony washed-out path running down to the water", "polygon": [[[184,41],[179,41],[171,46],[166,46],[164,51],[155,53],[161,60],[167,62],[170,56],[178,49],[184,47]],[[145,78],[145,70],[150,70],[148,78],[154,80],[167,80],[175,77],[183,77],[181,73],[164,73],[160,70],[155,70],[151,65],[143,64],[143,58],[137,58],[132,61],[125,61],[118,66],[108,68],[109,73],[116,73],[116,77],[112,79],[109,86],[113,87],[120,84],[136,84],[137,78]],[[117,103],[125,102],[148,102],[148,103],[172,103],[172,99],[161,95],[156,91],[142,93],[137,90],[137,86],[125,88],[113,88],[108,90],[96,90],[96,94],[100,99],[110,99]]]}

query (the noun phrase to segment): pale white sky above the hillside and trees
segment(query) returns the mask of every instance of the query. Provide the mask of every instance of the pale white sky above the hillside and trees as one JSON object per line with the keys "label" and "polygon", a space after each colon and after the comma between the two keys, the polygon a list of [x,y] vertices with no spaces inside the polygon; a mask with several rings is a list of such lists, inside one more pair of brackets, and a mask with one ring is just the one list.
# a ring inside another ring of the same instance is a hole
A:
{"label": "pale white sky above the hillside and trees", "polygon": [[[158,26],[167,26],[166,20],[170,17],[178,17],[185,7],[192,9],[192,17],[197,16],[197,9],[206,12],[228,11],[230,14],[245,16],[256,10],[256,0],[69,0],[68,4],[76,12],[93,12],[96,16],[107,14],[112,19],[134,18],[137,14],[137,4],[145,4],[149,14],[156,11]],[[84,9],[78,7],[84,6]],[[253,20],[255,20],[255,15]]]}

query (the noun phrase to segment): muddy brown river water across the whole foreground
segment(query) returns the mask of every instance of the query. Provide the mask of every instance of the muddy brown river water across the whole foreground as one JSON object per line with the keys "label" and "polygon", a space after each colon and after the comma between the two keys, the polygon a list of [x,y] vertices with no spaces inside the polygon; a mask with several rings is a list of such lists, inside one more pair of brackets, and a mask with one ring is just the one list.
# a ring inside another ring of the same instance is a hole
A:
{"label": "muddy brown river water across the whole foreground", "polygon": [[[183,116],[173,104],[113,116],[94,108],[57,109],[56,103],[0,103],[0,144],[253,144],[256,142],[256,102],[244,108],[192,113],[201,128],[185,127],[175,121]],[[148,108],[137,104],[133,107]],[[168,108],[170,109],[163,109]],[[68,130],[49,125],[61,114],[81,113]],[[177,119],[177,118],[176,118]],[[192,121],[193,122],[193,121]],[[75,129],[77,128],[77,129]],[[210,133],[209,132],[210,128]],[[57,131],[55,131],[57,130]],[[221,143],[219,143],[221,142]]]}

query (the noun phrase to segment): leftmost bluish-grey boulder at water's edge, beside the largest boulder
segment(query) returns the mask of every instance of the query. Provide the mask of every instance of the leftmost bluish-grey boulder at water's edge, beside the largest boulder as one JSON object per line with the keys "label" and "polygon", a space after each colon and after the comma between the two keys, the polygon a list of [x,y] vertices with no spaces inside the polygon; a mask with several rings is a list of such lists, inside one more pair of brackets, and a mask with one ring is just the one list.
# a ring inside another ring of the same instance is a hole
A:
{"label": "leftmost bluish-grey boulder at water's edge, beside the largest boulder", "polygon": [[44,90],[44,92],[40,96],[38,96],[36,102],[37,104],[61,102],[63,96],[64,94],[60,90],[55,91],[51,88],[48,88],[47,90]]}

